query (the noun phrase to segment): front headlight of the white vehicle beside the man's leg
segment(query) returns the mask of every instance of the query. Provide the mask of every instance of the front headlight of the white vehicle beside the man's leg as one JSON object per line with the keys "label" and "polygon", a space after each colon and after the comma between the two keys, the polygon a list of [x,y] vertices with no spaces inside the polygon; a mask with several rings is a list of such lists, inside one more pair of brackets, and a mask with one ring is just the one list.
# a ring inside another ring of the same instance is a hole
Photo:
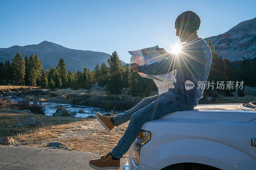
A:
{"label": "front headlight of the white vehicle beside the man's leg", "polygon": [[151,138],[150,131],[144,131],[140,129],[140,132],[133,143],[132,159],[136,165],[139,164],[140,148],[145,145]]}

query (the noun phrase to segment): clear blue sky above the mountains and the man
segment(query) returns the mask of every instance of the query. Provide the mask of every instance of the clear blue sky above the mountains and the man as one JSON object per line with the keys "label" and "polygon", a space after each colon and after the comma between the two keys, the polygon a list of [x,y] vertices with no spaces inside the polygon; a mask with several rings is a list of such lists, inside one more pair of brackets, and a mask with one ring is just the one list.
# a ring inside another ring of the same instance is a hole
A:
{"label": "clear blue sky above the mountains and the man", "polygon": [[[178,42],[174,21],[183,11],[201,18],[199,36],[228,31],[256,17],[256,1],[6,1],[0,0],[0,47],[38,44],[117,51],[130,62],[127,51],[158,45],[172,51]],[[40,56],[39,56],[40,57]]]}

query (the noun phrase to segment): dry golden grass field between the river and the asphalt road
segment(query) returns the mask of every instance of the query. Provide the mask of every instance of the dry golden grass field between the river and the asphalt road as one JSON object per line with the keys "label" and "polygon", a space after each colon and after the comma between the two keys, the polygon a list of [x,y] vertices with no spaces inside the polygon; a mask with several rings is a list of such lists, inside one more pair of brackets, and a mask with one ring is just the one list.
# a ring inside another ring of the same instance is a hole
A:
{"label": "dry golden grass field between the river and the asphalt road", "polygon": [[[45,125],[16,128],[18,123],[28,117],[38,119]],[[113,149],[127,126],[128,122],[108,132],[95,118],[52,117],[0,109],[0,136],[12,137],[15,144],[30,147],[44,147],[48,142],[60,142],[71,150],[103,154]],[[128,157],[128,153],[124,157]]]}

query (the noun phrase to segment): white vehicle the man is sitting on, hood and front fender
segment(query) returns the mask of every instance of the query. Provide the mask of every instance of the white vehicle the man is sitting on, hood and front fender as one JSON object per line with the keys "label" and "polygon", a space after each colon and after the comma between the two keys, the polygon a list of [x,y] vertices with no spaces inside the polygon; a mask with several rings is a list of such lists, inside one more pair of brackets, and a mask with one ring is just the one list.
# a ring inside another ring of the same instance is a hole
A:
{"label": "white vehicle the man is sitting on, hood and front fender", "polygon": [[256,169],[255,105],[198,105],[146,122],[124,170]]}

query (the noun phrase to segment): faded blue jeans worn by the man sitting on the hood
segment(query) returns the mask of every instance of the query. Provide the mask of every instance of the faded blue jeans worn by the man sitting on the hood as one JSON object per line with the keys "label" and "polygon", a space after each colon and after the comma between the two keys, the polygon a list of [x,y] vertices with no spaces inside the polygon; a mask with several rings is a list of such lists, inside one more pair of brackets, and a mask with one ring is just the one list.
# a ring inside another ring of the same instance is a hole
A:
{"label": "faded blue jeans worn by the man sitting on the hood", "polygon": [[124,135],[113,148],[111,154],[116,158],[122,158],[129,150],[133,141],[136,139],[141,126],[150,120],[157,119],[169,113],[181,110],[191,110],[195,106],[191,106],[182,102],[173,89],[168,92],[144,98],[140,103],[132,109],[113,117],[116,126],[130,120]]}

